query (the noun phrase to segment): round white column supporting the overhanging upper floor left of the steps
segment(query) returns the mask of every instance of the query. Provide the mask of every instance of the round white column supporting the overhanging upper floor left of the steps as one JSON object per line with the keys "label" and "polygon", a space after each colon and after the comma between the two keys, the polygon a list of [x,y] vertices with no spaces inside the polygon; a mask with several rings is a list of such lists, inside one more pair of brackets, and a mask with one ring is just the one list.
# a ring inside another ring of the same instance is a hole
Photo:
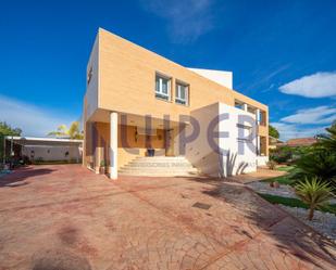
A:
{"label": "round white column supporting the overhanging upper floor left of the steps", "polygon": [[117,178],[117,113],[110,113],[110,178]]}

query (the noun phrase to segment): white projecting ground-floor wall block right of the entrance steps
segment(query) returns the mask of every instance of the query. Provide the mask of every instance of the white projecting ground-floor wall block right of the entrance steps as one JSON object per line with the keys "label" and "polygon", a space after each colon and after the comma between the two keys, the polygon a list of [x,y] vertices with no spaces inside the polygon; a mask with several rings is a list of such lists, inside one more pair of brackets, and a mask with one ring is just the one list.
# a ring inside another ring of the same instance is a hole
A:
{"label": "white projecting ground-floor wall block right of the entrance steps", "polygon": [[[213,177],[257,170],[257,129],[253,114],[215,103],[195,110],[190,115],[200,125],[199,134],[192,141],[181,141],[181,143],[185,145],[186,158],[196,168]],[[228,118],[221,118],[221,115],[223,117],[226,115]],[[186,127],[187,137],[191,132],[192,125],[189,125]],[[221,134],[217,139],[215,133],[222,132],[226,132],[227,138]],[[249,134],[250,138],[247,139]],[[176,140],[181,140],[178,137]]]}

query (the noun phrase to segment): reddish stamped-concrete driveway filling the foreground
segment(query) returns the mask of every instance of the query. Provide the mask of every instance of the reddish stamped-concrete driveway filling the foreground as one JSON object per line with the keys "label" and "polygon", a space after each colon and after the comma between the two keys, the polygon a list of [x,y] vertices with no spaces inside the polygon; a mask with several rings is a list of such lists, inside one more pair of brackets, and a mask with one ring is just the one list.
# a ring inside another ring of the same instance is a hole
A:
{"label": "reddish stamped-concrete driveway filling the foreground", "polygon": [[0,179],[0,226],[1,270],[336,265],[335,246],[279,208],[204,179],[112,182],[78,165],[28,167]]}

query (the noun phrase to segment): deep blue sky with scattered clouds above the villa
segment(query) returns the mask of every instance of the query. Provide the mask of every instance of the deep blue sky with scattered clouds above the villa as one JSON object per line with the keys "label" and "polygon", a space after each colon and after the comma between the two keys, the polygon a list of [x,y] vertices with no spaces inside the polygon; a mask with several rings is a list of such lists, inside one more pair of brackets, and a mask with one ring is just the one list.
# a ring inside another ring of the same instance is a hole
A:
{"label": "deep blue sky with scattered clouds above the villa", "polygon": [[[283,139],[336,119],[336,1],[5,1],[0,120],[45,136],[80,118],[98,27],[184,66],[232,70]],[[209,89],[211,91],[211,89]]]}

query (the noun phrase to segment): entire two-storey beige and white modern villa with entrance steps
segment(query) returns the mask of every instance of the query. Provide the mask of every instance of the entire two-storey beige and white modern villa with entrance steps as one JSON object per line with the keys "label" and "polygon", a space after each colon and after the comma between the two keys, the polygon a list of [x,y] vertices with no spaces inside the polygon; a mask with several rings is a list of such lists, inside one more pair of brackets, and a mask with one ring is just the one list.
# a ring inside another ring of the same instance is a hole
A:
{"label": "entire two-storey beige and white modern villa with entrance steps", "polygon": [[269,107],[233,90],[231,72],[184,67],[101,28],[83,116],[83,165],[112,179],[226,177],[267,160]]}

